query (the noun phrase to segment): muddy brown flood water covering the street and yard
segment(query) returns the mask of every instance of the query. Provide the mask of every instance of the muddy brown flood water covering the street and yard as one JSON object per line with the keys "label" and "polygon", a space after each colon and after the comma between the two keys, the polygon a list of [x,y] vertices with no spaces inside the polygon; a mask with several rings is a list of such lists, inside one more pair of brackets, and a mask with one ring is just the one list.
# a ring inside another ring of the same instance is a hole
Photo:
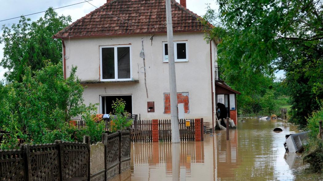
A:
{"label": "muddy brown flood water covering the street and yard", "polygon": [[131,168],[112,180],[322,180],[304,173],[301,154],[285,153],[285,135],[297,132],[283,120],[240,118],[228,141],[218,130],[204,141],[131,143]]}

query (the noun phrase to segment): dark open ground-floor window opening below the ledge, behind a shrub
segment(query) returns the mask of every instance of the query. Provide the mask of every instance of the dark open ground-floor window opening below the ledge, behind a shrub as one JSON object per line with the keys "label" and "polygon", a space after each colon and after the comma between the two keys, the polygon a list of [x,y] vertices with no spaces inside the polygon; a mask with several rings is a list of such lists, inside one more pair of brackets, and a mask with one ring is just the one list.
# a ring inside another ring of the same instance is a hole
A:
{"label": "dark open ground-floor window opening below the ledge, behind a shrub", "polygon": [[100,96],[100,112],[101,114],[113,113],[112,103],[117,99],[122,99],[126,102],[125,110],[132,114],[132,96],[131,95],[111,95]]}

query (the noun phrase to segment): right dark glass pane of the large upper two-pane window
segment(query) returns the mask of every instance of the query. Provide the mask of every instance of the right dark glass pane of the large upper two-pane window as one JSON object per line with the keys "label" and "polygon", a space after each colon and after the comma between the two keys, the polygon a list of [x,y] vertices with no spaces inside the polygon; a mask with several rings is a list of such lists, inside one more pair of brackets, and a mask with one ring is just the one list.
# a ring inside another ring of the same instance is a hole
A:
{"label": "right dark glass pane of the large upper two-pane window", "polygon": [[118,47],[118,79],[130,79],[130,47]]}

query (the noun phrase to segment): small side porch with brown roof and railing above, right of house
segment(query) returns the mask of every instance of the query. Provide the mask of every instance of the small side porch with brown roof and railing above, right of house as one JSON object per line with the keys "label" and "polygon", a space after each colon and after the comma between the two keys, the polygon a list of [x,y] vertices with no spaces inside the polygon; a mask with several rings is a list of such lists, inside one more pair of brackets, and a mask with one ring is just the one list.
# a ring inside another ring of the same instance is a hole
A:
{"label": "small side porch with brown roof and railing above, right of house", "polygon": [[220,66],[215,66],[215,100],[225,105],[228,110],[228,117],[234,121],[237,125],[237,100],[236,95],[241,94],[240,92],[232,89],[224,80],[224,71]]}

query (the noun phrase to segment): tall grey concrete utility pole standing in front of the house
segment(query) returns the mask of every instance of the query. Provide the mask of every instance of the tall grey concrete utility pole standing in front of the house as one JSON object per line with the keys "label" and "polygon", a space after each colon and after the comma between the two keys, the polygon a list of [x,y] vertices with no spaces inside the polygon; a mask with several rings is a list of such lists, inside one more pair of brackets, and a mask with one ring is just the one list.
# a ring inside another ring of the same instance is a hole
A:
{"label": "tall grey concrete utility pole standing in front of the house", "polygon": [[171,100],[171,125],[172,125],[172,143],[180,142],[180,131],[177,112],[177,90],[175,75],[175,58],[173,43],[173,24],[171,0],[166,1],[166,23],[167,23],[167,45],[168,45],[168,69],[169,69],[169,88]]}

